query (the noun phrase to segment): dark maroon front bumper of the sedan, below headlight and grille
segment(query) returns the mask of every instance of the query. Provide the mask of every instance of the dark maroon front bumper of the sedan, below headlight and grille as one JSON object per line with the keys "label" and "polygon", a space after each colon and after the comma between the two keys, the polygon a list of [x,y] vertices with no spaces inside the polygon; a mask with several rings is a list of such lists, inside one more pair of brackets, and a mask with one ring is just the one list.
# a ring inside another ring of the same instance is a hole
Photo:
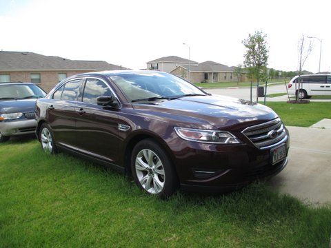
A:
{"label": "dark maroon front bumper of the sedan, below headlight and grille", "polygon": [[[286,146],[286,157],[273,165],[272,149],[281,145]],[[290,136],[275,147],[259,149],[250,143],[210,145],[186,141],[179,147],[170,145],[181,186],[195,192],[226,192],[278,174],[288,163]]]}

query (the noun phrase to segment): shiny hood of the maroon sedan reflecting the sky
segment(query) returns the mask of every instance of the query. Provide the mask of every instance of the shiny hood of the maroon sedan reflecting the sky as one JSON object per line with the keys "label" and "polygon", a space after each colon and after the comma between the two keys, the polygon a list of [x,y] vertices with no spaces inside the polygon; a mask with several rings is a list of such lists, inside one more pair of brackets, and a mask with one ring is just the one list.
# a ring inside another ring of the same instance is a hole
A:
{"label": "shiny hood of the maroon sedan reflecting the sky", "polygon": [[[205,128],[262,123],[277,118],[265,105],[228,96],[188,96],[170,101],[134,104],[136,110]],[[213,127],[210,127],[212,125]]]}

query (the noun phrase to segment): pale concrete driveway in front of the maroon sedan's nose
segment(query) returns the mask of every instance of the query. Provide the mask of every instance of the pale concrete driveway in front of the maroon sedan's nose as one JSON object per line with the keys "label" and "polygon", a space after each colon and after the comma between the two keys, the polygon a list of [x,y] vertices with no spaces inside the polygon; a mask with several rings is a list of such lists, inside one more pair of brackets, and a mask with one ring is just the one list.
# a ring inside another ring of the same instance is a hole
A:
{"label": "pale concrete driveway in front of the maroon sedan's nose", "polygon": [[271,178],[279,192],[319,205],[331,203],[331,130],[288,127],[288,166]]}

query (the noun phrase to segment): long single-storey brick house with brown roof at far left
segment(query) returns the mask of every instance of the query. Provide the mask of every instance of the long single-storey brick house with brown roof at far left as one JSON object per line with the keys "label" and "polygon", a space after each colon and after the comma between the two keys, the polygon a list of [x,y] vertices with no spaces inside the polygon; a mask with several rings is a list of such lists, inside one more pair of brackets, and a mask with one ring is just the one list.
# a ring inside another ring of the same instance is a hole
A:
{"label": "long single-storey brick house with brown roof at far left", "polygon": [[0,82],[32,82],[46,92],[74,74],[123,69],[126,68],[106,61],[77,61],[34,52],[0,51]]}

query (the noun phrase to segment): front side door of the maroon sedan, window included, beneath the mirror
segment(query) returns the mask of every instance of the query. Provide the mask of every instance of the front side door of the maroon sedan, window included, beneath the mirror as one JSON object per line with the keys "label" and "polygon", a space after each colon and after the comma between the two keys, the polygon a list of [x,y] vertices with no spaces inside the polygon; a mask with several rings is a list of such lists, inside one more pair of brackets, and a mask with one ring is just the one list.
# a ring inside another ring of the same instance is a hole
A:
{"label": "front side door of the maroon sedan, window included, beneath the mirror", "polygon": [[119,107],[97,105],[99,96],[114,96],[103,79],[88,78],[77,103],[77,147],[81,152],[117,163],[119,158]]}

